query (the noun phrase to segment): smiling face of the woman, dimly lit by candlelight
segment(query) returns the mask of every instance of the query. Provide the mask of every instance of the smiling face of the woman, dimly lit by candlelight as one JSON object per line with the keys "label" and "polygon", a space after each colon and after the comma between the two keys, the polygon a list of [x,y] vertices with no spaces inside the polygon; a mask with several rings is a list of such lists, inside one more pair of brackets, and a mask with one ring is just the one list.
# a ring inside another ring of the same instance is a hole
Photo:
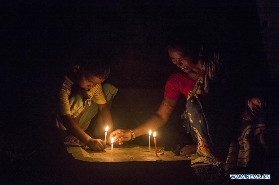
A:
{"label": "smiling face of the woman, dimly lit by candlelight", "polygon": [[179,67],[183,72],[190,72],[197,64],[197,56],[187,54],[182,47],[168,48],[171,61]]}

